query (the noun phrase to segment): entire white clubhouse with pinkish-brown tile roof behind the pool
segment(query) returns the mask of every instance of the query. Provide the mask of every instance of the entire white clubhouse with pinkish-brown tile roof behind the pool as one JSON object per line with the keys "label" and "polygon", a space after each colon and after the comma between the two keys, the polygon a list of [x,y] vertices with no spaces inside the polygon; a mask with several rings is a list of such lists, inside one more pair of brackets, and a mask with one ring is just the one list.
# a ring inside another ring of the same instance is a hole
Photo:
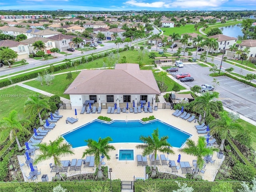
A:
{"label": "entire white clubhouse with pinkish-brown tile roof behind the pool", "polygon": [[81,109],[86,100],[108,108],[114,103],[125,107],[140,100],[153,103],[160,90],[151,70],[138,64],[116,64],[114,70],[82,70],[64,94],[70,95],[72,109]]}

